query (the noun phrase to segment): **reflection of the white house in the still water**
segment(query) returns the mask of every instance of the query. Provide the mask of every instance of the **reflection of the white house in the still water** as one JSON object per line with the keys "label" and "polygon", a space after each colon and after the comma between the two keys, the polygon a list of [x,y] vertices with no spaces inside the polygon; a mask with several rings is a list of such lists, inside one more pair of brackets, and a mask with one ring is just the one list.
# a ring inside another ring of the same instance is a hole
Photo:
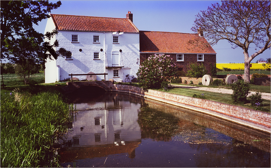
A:
{"label": "reflection of the white house in the still water", "polygon": [[[92,152],[86,152],[88,155],[82,156],[86,158],[98,157],[97,152],[101,152],[101,148],[107,151],[105,153],[108,155],[117,151],[132,155],[141,142],[141,131],[137,122],[139,108],[140,104],[131,104],[117,98],[110,103],[76,104],[79,114],[63,147],[68,147],[68,151],[73,152],[78,148],[80,151],[91,149]],[[66,158],[65,161],[72,157],[68,151],[60,153],[61,158]]]}

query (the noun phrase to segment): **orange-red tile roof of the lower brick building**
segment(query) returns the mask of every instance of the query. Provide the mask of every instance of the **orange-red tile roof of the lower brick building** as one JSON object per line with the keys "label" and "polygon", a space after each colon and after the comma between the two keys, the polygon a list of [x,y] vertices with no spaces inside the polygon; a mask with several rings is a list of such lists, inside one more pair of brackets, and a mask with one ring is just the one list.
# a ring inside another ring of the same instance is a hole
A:
{"label": "orange-red tile roof of the lower brick building", "polygon": [[139,31],[140,52],[216,53],[198,34]]}

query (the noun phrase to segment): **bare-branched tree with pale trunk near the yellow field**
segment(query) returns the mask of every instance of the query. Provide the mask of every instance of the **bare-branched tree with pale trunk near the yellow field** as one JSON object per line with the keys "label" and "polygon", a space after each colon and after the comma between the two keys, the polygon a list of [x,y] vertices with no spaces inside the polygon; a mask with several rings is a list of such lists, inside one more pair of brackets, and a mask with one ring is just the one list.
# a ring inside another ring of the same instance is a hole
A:
{"label": "bare-branched tree with pale trunk near the yellow field", "polygon": [[[270,48],[270,1],[221,1],[196,15],[191,30],[204,31],[211,45],[228,40],[232,48],[241,47],[245,56],[245,81],[250,82],[250,62]],[[249,56],[249,45],[260,48]]]}

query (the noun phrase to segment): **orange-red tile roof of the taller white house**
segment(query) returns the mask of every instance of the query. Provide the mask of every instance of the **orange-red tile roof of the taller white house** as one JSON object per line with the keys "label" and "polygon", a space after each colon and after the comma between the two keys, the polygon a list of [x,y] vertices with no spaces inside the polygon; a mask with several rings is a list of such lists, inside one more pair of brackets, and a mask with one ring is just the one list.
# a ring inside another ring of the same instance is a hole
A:
{"label": "orange-red tile roof of the taller white house", "polygon": [[138,33],[139,30],[126,18],[74,16],[51,14],[58,30],[74,31],[99,31],[99,32],[131,32]]}

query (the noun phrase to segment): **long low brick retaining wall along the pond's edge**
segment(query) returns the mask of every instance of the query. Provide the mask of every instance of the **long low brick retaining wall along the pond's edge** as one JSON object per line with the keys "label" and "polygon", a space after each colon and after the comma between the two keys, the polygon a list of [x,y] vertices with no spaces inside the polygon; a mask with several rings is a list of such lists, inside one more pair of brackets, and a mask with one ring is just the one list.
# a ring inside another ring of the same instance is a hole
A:
{"label": "long low brick retaining wall along the pond's edge", "polygon": [[114,87],[111,87],[111,89],[109,90],[126,92],[145,98],[154,99],[171,105],[195,110],[201,113],[206,113],[211,116],[216,116],[221,119],[229,120],[241,125],[248,126],[250,128],[270,133],[270,113],[223,104],[215,101],[209,101],[205,99],[175,95],[162,91],[150,89],[148,91],[144,91],[142,88],[129,85],[114,84]]}

